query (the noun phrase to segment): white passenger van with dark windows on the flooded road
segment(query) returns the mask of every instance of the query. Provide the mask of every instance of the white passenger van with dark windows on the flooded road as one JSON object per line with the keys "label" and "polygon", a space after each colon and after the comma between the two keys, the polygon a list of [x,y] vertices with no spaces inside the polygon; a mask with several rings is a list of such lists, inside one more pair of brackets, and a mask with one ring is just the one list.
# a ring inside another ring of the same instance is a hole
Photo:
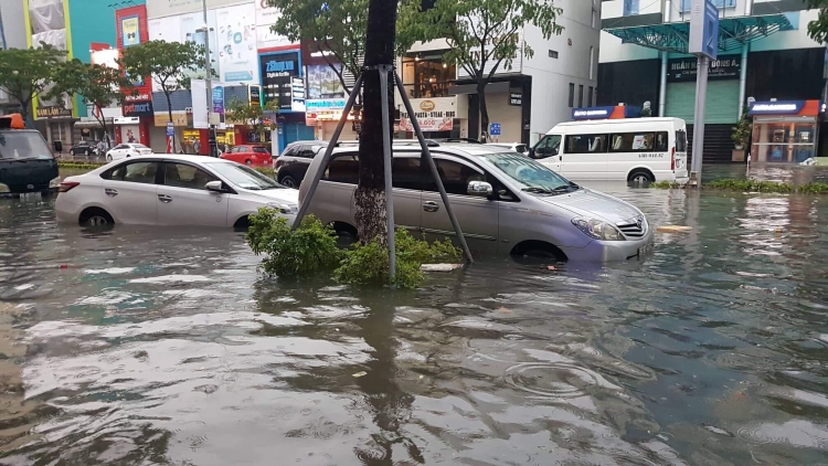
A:
{"label": "white passenger van with dark windows on the flooded road", "polygon": [[573,181],[688,181],[687,125],[680,118],[562,123],[529,156]]}

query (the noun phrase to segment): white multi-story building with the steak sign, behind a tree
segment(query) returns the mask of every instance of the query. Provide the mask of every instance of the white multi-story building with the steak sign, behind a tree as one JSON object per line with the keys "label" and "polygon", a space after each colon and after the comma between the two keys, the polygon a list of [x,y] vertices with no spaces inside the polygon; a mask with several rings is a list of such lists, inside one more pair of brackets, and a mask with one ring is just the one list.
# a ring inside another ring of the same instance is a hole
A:
{"label": "white multi-story building with the steak sign, behind a tree", "polygon": [[[445,63],[446,41],[415,44],[397,64],[423,130],[431,137],[478,138],[481,131],[500,135],[490,140],[534,142],[554,125],[571,118],[572,108],[592,106],[597,86],[601,41],[598,0],[556,0],[560,35],[543,39],[539,28],[519,32],[532,56],[519,53],[511,67],[500,66],[486,86],[490,127],[480,128],[476,82],[461,66]],[[397,97],[401,133],[413,137],[407,114]]]}

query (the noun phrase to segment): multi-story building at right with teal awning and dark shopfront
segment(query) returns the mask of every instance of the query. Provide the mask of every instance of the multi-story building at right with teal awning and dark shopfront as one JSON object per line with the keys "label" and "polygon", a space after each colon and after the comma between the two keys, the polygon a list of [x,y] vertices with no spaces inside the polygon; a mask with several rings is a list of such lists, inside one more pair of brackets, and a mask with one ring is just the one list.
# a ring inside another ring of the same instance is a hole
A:
{"label": "multi-story building at right with teal awning and dark shopfront", "polygon": [[[714,3],[720,12],[719,56],[710,64],[705,162],[732,160],[732,128],[749,100],[819,100],[826,77],[826,47],[807,33],[818,13],[804,10],[802,0]],[[649,102],[654,116],[683,118],[692,130],[697,59],[687,54],[690,4],[690,0],[604,1],[598,105]],[[785,144],[794,134],[806,141],[816,137],[816,127],[785,127]],[[826,130],[821,134],[828,136]]]}

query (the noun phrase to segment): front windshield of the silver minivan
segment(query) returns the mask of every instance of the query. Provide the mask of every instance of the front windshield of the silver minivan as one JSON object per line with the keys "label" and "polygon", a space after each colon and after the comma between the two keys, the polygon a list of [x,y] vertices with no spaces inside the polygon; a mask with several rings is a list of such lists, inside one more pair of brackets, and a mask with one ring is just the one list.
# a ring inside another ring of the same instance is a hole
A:
{"label": "front windshield of the silver minivan", "polygon": [[501,173],[513,180],[522,191],[537,194],[560,194],[578,189],[577,184],[524,156],[512,152],[492,153],[485,157]]}

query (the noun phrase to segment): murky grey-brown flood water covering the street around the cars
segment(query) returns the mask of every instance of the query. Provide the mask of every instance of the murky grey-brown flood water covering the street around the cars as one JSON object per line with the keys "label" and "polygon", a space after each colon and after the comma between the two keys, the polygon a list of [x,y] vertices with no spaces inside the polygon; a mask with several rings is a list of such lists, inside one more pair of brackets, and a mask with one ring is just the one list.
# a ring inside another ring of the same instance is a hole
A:
{"label": "murky grey-brown flood water covering the street around the cars", "polygon": [[360,290],[0,200],[0,464],[828,464],[828,198],[595,187],[693,230]]}

